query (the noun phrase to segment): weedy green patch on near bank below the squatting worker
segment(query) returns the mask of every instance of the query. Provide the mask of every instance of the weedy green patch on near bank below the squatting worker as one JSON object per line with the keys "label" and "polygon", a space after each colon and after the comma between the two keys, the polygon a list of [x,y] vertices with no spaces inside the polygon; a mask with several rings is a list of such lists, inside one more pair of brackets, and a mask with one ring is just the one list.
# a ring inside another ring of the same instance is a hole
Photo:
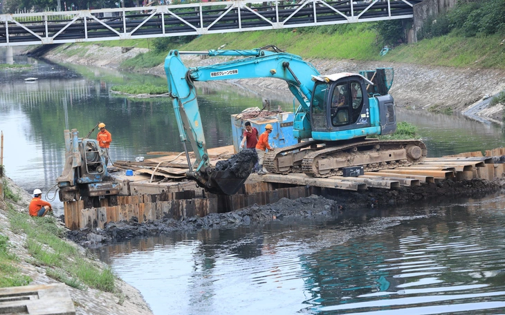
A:
{"label": "weedy green patch on near bank below the squatting worker", "polygon": [[68,242],[52,217],[30,218],[24,213],[9,211],[12,231],[26,233],[26,248],[35,265],[46,267],[46,274],[71,287],[85,285],[106,292],[115,292],[115,276],[110,269],[100,269]]}

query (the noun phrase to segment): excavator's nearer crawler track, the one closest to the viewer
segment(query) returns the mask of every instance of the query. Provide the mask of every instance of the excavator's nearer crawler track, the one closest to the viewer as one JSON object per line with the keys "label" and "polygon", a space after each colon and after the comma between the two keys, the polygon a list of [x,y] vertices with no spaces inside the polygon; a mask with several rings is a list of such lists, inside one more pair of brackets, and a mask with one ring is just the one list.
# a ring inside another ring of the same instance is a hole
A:
{"label": "excavator's nearer crawler track, the one closest to the viewer", "polygon": [[343,175],[347,166],[363,166],[364,171],[394,169],[422,162],[427,154],[420,140],[365,140],[327,146],[304,156],[302,171],[309,176],[326,178]]}

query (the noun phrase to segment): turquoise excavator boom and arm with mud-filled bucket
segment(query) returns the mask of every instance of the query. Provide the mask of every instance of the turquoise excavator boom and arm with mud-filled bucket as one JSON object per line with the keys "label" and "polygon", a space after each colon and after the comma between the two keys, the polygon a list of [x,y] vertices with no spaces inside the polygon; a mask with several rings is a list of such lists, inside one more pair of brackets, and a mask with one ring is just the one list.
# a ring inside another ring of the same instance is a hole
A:
{"label": "turquoise excavator boom and arm with mud-filled bucket", "polygon": [[[181,59],[181,55],[184,54],[246,58],[212,66],[187,68]],[[309,106],[314,86],[312,75],[319,75],[318,70],[312,64],[303,61],[297,55],[272,52],[261,48],[255,50],[208,50],[205,52],[171,50],[165,59],[165,73],[179,135],[190,168],[187,175],[196,180],[201,187],[205,187],[213,193],[224,194],[236,193],[247,178],[234,178],[232,173],[215,171],[210,166],[201,115],[196,100],[196,88],[193,82],[262,77],[282,79],[287,82],[289,90],[301,104],[298,112],[306,116],[310,113]],[[303,76],[297,77],[296,73],[303,74]],[[190,162],[187,142],[190,142],[196,157],[193,163]]]}

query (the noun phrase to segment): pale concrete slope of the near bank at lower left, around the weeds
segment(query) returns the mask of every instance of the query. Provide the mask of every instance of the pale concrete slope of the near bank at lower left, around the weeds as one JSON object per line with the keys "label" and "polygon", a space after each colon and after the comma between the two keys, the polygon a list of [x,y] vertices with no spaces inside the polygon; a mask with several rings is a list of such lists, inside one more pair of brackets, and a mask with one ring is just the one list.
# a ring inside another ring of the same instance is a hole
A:
{"label": "pale concrete slope of the near bank at lower left, around the weeds", "polygon": [[[0,180],[1,179],[2,178],[0,178]],[[17,258],[19,258],[15,267],[17,267],[21,275],[28,276],[32,279],[29,285],[59,283],[59,281],[48,276],[48,269],[52,267],[52,270],[54,270],[56,266],[47,266],[37,263],[37,260],[28,253],[26,233],[13,230],[10,225],[7,209],[10,208],[11,211],[18,211],[28,217],[28,204],[32,199],[31,195],[26,193],[24,189],[17,187],[17,185],[9,178],[4,177],[3,180],[3,182],[8,185],[9,191],[12,191],[12,193],[17,196],[16,199],[19,199],[15,202],[9,199],[1,200],[0,198],[1,235],[9,238],[8,243],[10,244],[10,247],[8,250],[10,253],[15,254]],[[6,189],[6,187],[3,188]],[[59,224],[58,228],[65,229],[62,227],[62,224]],[[68,242],[68,244],[77,247],[77,245],[73,242]],[[77,249],[83,254],[83,256],[86,256],[85,249],[82,247],[78,247]],[[107,267],[107,265],[103,262],[94,260],[93,258],[83,257],[82,259],[91,261],[91,263],[100,270],[106,269]],[[128,285],[120,279],[116,279],[115,287],[116,293],[113,294],[110,292],[100,291],[99,289],[93,289],[91,287],[75,288],[66,285],[66,289],[68,289],[73,305],[75,306],[75,314],[152,314],[149,306],[137,289],[131,287],[131,285]]]}

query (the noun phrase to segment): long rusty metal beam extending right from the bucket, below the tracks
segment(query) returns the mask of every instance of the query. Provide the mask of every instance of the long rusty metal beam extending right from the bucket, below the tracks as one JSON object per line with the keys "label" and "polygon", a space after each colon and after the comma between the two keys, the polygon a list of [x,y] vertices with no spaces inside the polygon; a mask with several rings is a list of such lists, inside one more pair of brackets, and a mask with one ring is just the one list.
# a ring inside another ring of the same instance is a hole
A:
{"label": "long rusty metal beam extending right from the bucket, below the tracks", "polygon": [[249,176],[250,180],[258,180],[261,182],[277,182],[282,184],[295,184],[295,185],[309,185],[314,187],[327,187],[344,189],[351,191],[358,191],[362,189],[367,189],[367,184],[361,182],[353,182],[347,180],[340,180],[335,178],[312,178],[302,173],[295,174],[273,174],[268,173],[265,175],[251,174]]}

